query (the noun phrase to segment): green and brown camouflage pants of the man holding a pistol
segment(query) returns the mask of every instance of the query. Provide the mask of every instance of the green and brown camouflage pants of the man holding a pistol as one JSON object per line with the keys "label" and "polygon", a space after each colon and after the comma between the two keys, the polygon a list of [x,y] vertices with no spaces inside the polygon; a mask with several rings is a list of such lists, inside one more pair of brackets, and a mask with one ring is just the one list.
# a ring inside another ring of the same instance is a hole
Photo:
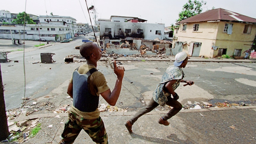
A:
{"label": "green and brown camouflage pants of the man holding a pistol", "polygon": [[96,119],[84,119],[81,116],[69,112],[69,120],[65,124],[61,134],[63,138],[59,144],[74,143],[81,130],[84,130],[97,144],[108,144],[108,134],[101,117]]}

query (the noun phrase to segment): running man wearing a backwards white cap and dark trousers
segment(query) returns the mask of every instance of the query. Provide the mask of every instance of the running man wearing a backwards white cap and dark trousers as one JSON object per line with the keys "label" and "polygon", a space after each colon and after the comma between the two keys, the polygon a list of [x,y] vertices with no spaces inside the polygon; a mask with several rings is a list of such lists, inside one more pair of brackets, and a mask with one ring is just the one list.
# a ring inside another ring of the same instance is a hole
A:
{"label": "running man wearing a backwards white cap and dark trousers", "polygon": [[[161,82],[157,85],[156,90],[153,92],[153,97],[146,107],[140,109],[135,115],[128,120],[124,125],[128,129],[129,133],[132,133],[132,125],[142,115],[154,110],[158,105],[165,106],[169,105],[173,107],[168,113],[162,116],[158,123],[168,126],[170,123],[167,121],[174,115],[176,115],[182,108],[180,102],[178,102],[178,94],[174,90],[179,86],[180,82],[187,83],[186,85],[193,85],[193,81],[182,80],[185,77],[184,72],[181,68],[185,68],[188,62],[186,52],[177,53],[175,56],[174,66],[170,66],[166,69],[162,76]],[[171,95],[173,97],[171,97]]]}

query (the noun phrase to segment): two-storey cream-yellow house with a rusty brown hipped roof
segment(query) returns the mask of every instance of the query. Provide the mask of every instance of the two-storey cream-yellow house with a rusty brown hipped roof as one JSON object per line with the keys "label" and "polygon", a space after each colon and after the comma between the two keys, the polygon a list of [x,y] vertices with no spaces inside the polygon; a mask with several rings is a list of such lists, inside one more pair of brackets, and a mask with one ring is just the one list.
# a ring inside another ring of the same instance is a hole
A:
{"label": "two-storey cream-yellow house with a rusty brown hipped roof", "polygon": [[240,57],[252,47],[256,19],[224,9],[200,13],[177,23],[173,51],[190,56],[215,58],[227,54]]}

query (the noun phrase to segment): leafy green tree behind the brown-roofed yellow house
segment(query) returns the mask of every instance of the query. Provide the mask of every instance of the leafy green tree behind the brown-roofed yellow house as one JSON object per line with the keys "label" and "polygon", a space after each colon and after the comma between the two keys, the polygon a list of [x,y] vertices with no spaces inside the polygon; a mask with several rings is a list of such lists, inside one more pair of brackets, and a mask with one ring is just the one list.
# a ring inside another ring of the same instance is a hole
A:
{"label": "leafy green tree behind the brown-roofed yellow house", "polygon": [[179,13],[179,19],[176,20],[176,22],[179,22],[181,20],[185,20],[189,17],[192,17],[194,15],[200,14],[203,9],[201,8],[202,5],[205,5],[206,1],[191,1],[188,0],[186,4],[183,5],[182,11]]}

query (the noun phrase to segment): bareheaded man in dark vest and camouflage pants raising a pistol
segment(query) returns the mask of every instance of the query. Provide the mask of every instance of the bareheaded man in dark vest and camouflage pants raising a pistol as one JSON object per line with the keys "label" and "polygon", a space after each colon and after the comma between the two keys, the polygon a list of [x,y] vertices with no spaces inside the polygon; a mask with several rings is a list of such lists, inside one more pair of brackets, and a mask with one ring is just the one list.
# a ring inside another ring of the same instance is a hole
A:
{"label": "bareheaded man in dark vest and camouflage pants raising a pistol", "polygon": [[97,44],[93,42],[82,44],[80,54],[86,59],[86,64],[75,69],[69,81],[67,94],[73,98],[73,105],[68,111],[69,119],[64,126],[59,143],[73,143],[83,129],[95,143],[108,144],[108,134],[97,108],[99,94],[108,104],[116,105],[124,77],[124,67],[116,67],[116,61],[114,61],[117,80],[111,92],[105,76],[96,69],[97,61],[101,58],[101,50]]}

